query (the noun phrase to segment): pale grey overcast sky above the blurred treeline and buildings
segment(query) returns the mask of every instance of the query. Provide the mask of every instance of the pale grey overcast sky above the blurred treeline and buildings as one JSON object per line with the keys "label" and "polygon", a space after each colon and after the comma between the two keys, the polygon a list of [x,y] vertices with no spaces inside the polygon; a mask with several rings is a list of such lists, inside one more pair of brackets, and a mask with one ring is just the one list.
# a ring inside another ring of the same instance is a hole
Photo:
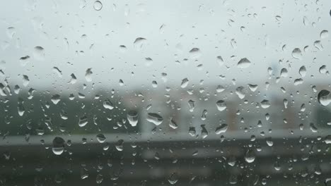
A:
{"label": "pale grey overcast sky above the blurred treeline and buildings", "polygon": [[[330,63],[330,37],[321,39],[320,32],[330,30],[331,1],[101,2],[103,8],[95,11],[94,1],[1,1],[1,80],[9,77],[9,83],[23,87],[22,75],[28,75],[29,87],[66,89],[72,86],[66,84],[71,73],[78,84],[91,84],[84,75],[92,68],[92,82],[100,82],[96,86],[118,86],[120,79],[127,87],[151,87],[153,80],[162,86],[161,73],[178,86],[185,77],[211,84],[233,79],[264,83],[272,67],[277,76],[287,68],[293,79],[285,82],[293,82],[303,65],[308,71],[304,80],[327,80],[318,69]],[[146,39],[141,49],[134,45],[139,37]],[[314,47],[316,40],[323,51]],[[42,46],[41,54],[35,46]],[[190,54],[193,48],[199,54]],[[301,49],[301,60],[291,56],[295,48]],[[25,66],[19,60],[23,56],[30,56]],[[238,68],[240,58],[251,65]],[[62,70],[62,77],[53,67]]]}

